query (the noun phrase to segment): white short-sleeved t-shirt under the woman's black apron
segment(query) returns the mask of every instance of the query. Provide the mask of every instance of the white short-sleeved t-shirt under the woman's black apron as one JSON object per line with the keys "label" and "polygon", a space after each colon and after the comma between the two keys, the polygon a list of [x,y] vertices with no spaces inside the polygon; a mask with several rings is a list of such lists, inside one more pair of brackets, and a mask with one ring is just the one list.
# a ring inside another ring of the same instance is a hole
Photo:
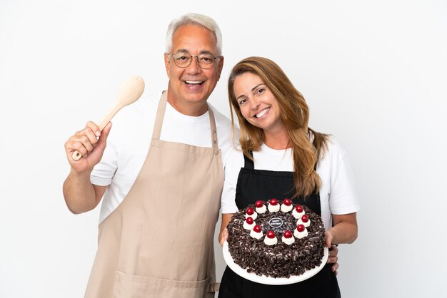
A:
{"label": "white short-sleeved t-shirt under the woman's black apron", "polygon": [[[261,145],[261,150],[253,152],[256,170],[293,172],[292,150],[275,150]],[[236,202],[236,184],[243,168],[243,153],[231,149],[225,168],[225,183],[221,197],[221,212],[238,211]],[[326,229],[332,226],[334,215],[343,215],[360,210],[354,187],[353,173],[346,150],[333,138],[328,141],[328,148],[318,161],[316,172],[321,178],[320,202],[321,217]]]}

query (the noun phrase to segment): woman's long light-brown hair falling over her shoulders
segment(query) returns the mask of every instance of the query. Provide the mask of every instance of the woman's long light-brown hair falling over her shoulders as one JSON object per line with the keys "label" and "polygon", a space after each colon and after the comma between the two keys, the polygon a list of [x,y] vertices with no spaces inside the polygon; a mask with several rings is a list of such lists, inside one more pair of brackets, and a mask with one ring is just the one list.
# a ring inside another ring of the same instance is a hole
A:
{"label": "woman's long light-brown hair falling over her shoulders", "polygon": [[[293,151],[293,180],[296,190],[293,197],[311,195],[321,186],[321,179],[314,167],[319,155],[323,155],[326,149],[328,135],[308,128],[309,110],[306,101],[276,63],[263,57],[248,57],[233,67],[228,78],[231,122],[234,125],[234,110],[239,121],[239,141],[244,155],[253,159],[249,151],[258,151],[264,141],[262,128],[251,125],[243,118],[233,91],[236,78],[247,72],[261,78],[281,108],[281,118],[286,125],[289,144]],[[309,139],[311,135],[313,135],[313,143]]]}

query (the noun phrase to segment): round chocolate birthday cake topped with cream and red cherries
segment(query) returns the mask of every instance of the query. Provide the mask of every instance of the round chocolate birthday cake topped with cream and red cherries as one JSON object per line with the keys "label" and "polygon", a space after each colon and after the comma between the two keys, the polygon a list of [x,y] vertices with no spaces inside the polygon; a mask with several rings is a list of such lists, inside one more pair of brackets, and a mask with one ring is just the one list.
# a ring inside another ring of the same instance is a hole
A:
{"label": "round chocolate birthday cake topped with cream and red cherries", "polygon": [[291,200],[257,201],[238,210],[228,223],[228,252],[248,273],[291,277],[321,265],[321,217]]}

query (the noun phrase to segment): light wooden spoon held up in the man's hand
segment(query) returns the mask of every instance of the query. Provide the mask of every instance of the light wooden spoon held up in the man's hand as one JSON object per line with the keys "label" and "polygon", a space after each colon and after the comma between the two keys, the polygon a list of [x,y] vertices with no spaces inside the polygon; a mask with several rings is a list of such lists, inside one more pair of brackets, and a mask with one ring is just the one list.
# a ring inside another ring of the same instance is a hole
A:
{"label": "light wooden spoon held up in the man's hand", "polygon": [[[99,123],[99,131],[102,131],[104,127],[106,127],[107,123],[109,123],[111,118],[113,118],[121,108],[124,108],[139,99],[141,94],[143,94],[143,91],[144,81],[141,76],[129,76],[129,78],[126,78],[126,80],[121,83],[121,86],[119,86],[114,108],[112,108],[101,123]],[[76,150],[71,157],[74,160],[80,160],[82,155]]]}

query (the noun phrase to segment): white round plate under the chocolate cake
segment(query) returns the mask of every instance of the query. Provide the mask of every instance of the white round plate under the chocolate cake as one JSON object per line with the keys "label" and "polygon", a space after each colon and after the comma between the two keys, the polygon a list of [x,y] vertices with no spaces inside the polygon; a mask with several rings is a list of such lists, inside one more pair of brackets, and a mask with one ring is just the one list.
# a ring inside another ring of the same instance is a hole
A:
{"label": "white round plate under the chocolate cake", "polygon": [[265,275],[257,275],[256,273],[248,273],[246,269],[241,268],[238,264],[233,261],[233,257],[231,257],[230,252],[228,251],[228,242],[224,242],[223,247],[224,252],[224,260],[228,267],[233,270],[236,274],[241,277],[251,280],[252,282],[258,282],[260,284],[273,284],[273,285],[281,285],[281,284],[294,284],[296,282],[302,282],[308,278],[313,277],[313,275],[320,272],[321,269],[326,265],[329,256],[329,250],[327,247],[324,247],[324,255],[321,259],[321,264],[318,267],[307,270],[301,275],[291,275],[291,277],[266,277]]}

